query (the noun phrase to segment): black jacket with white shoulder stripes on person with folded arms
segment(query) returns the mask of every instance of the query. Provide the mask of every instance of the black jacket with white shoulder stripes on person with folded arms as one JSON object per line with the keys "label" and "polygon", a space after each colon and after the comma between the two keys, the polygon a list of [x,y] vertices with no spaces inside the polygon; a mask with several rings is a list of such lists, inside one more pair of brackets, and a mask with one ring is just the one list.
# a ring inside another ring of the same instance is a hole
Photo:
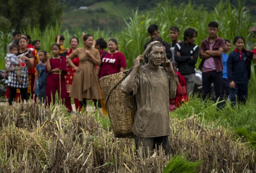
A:
{"label": "black jacket with white shoulder stripes on person with folded arms", "polygon": [[[180,52],[181,56],[177,55]],[[174,60],[177,62],[177,71],[182,75],[195,73],[195,64],[199,54],[199,47],[192,43],[179,42],[175,45]],[[191,60],[191,56],[193,59]]]}

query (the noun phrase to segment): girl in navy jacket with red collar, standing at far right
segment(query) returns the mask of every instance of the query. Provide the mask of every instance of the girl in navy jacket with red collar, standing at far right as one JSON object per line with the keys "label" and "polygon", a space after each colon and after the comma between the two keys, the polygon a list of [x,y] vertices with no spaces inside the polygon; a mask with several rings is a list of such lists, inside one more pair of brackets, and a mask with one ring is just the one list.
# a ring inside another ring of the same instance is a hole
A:
{"label": "girl in navy jacket with red collar, standing at far right", "polygon": [[234,38],[235,50],[227,59],[227,77],[230,82],[230,99],[233,104],[245,104],[248,95],[248,82],[250,79],[250,64],[252,54],[244,49],[244,38],[236,36]]}

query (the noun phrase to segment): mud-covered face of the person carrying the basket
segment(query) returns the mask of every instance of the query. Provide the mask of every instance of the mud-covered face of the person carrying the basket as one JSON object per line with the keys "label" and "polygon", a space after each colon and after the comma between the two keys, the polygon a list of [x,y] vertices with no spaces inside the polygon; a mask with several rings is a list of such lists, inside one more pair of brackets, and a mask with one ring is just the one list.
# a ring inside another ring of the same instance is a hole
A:
{"label": "mud-covered face of the person carrying the basket", "polygon": [[163,46],[153,46],[148,55],[149,63],[160,66],[165,59],[165,50]]}

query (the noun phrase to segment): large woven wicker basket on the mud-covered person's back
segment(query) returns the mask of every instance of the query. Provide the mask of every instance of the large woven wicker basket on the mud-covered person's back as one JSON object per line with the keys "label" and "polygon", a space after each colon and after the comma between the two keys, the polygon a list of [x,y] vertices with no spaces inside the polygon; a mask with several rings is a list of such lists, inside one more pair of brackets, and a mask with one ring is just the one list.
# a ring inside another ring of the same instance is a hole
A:
{"label": "large woven wicker basket on the mud-covered person's back", "polygon": [[126,70],[100,78],[112,130],[118,138],[133,137],[132,126],[137,111],[136,98],[135,96],[127,97],[121,91],[121,83],[130,71]]}

